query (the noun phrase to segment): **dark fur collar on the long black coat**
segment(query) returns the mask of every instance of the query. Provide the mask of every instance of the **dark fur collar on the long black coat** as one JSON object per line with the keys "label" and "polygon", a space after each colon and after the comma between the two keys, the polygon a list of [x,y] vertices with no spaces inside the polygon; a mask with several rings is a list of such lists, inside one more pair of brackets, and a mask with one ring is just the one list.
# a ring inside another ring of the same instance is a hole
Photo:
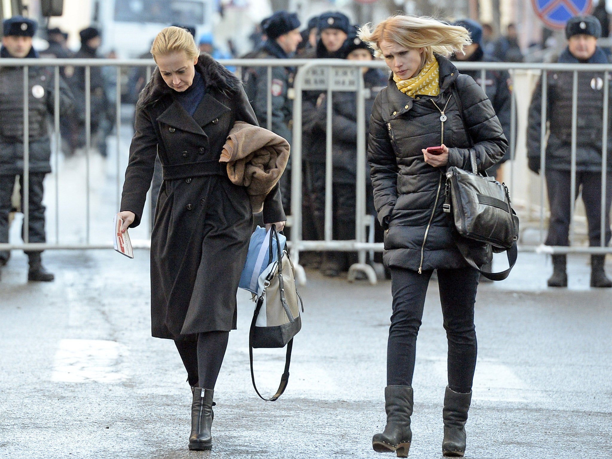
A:
{"label": "dark fur collar on the long black coat", "polygon": [[[200,54],[195,71],[202,75],[206,92],[218,91],[230,96],[242,88],[242,82],[237,76],[215,61],[209,54]],[[151,81],[141,91],[137,105],[138,107],[152,105],[172,92],[173,90],[163,81],[159,68],[156,68],[151,76]]]}

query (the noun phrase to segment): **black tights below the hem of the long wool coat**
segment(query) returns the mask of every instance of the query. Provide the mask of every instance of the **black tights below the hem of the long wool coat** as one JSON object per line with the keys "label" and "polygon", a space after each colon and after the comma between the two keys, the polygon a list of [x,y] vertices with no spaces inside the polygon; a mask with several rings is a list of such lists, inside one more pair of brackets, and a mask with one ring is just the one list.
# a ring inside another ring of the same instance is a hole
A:
{"label": "black tights below the hem of the long wool coat", "polygon": [[230,332],[198,333],[198,340],[174,340],[190,386],[214,389],[221,370]]}

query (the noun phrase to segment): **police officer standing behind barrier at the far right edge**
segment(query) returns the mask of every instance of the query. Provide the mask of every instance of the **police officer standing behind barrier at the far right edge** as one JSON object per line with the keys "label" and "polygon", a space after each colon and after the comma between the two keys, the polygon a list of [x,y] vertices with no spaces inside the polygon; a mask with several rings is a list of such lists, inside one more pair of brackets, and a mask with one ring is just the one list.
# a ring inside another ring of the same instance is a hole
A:
{"label": "police officer standing behind barrier at the far right edge", "polygon": [[[599,20],[594,16],[575,17],[565,25],[567,48],[559,56],[558,62],[569,64],[608,64],[608,58],[597,46],[602,34]],[[603,126],[603,72],[592,72],[585,66],[578,72],[578,106],[576,139],[576,190],[581,196],[586,210],[589,228],[589,245],[597,247],[601,242],[600,218],[602,209],[602,134],[608,129],[610,135],[611,118]],[[546,245],[569,245],[569,226],[571,213],[571,168],[572,168],[572,86],[573,72],[549,73],[547,78],[548,110],[550,135],[548,136],[545,176],[550,203],[550,222]],[[612,102],[610,88],[610,102]],[[542,113],[542,86],[535,86],[529,107],[527,130],[527,157],[529,169],[540,172],[540,126]],[[610,201],[612,200],[612,143],[608,142],[606,151],[608,166],[606,171],[605,245],[610,243]],[[565,255],[553,255],[553,275],[548,279],[550,287],[566,287],[567,272]],[[591,255],[591,286],[612,287],[612,281],[604,271],[605,255]]]}

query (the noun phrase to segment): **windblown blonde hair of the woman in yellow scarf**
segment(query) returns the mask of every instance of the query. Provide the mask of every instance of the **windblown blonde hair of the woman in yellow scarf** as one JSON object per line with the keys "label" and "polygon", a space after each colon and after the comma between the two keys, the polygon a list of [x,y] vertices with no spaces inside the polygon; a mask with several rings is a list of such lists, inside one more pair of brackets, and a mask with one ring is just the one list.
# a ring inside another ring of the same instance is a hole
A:
{"label": "windblown blonde hair of the woman in yellow scarf", "polygon": [[383,40],[397,43],[405,48],[425,48],[422,64],[428,62],[433,53],[450,56],[472,43],[467,29],[451,26],[433,18],[422,16],[396,15],[373,27],[365,24],[357,32],[359,38],[368,43],[377,58],[383,58],[379,48]]}

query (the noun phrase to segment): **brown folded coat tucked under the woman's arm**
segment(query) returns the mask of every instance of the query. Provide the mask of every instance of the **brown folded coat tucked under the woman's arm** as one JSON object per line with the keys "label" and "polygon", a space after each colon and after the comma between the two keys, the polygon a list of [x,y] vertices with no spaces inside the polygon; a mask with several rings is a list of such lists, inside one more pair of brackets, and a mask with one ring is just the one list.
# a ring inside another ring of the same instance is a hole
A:
{"label": "brown folded coat tucked under the woman's arm", "polygon": [[234,185],[247,187],[255,213],[262,211],[288,160],[288,141],[263,127],[236,121],[219,162],[227,163],[228,177]]}

